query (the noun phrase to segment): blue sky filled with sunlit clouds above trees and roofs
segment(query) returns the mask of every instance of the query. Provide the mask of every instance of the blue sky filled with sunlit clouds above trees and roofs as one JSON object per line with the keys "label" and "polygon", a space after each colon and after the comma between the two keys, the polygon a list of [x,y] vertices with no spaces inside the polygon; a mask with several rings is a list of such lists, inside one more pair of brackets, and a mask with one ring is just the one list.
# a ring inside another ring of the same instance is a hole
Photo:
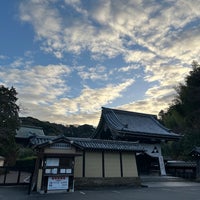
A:
{"label": "blue sky filled with sunlit clouds above trees and roofs", "polygon": [[200,0],[2,0],[0,85],[42,121],[158,115],[200,60],[199,11]]}

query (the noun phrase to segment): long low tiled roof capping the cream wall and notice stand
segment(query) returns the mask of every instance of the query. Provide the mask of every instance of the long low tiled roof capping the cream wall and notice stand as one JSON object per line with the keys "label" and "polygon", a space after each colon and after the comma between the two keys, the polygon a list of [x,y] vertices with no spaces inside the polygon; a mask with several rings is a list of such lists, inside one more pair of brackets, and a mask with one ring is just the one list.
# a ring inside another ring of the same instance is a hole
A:
{"label": "long low tiled roof capping the cream wall and notice stand", "polygon": [[91,138],[72,138],[72,137],[33,137],[30,139],[32,145],[35,148],[40,146],[49,145],[56,141],[67,140],[70,144],[83,150],[108,150],[108,151],[143,151],[142,147],[135,142],[125,141],[112,141],[112,140],[100,140]]}

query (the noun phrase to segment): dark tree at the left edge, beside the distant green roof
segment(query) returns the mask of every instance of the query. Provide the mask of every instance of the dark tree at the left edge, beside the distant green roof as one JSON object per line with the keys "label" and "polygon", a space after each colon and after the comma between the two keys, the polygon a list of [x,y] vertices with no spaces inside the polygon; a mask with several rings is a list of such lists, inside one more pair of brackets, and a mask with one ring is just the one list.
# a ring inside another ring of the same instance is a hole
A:
{"label": "dark tree at the left edge, beside the distant green roof", "polygon": [[16,96],[14,87],[0,86],[0,154],[6,158],[7,165],[15,163],[17,153],[15,133],[20,123]]}

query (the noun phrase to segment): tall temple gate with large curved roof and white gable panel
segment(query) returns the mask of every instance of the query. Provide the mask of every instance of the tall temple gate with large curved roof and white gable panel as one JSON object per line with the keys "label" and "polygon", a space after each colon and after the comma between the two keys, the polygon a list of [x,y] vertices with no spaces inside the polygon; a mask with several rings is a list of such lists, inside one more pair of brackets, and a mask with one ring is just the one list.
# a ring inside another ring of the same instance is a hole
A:
{"label": "tall temple gate with large curved roof and white gable panel", "polygon": [[138,142],[145,151],[136,155],[139,173],[152,173],[159,166],[160,174],[166,175],[161,143],[180,136],[160,124],[155,115],[102,108],[93,138]]}

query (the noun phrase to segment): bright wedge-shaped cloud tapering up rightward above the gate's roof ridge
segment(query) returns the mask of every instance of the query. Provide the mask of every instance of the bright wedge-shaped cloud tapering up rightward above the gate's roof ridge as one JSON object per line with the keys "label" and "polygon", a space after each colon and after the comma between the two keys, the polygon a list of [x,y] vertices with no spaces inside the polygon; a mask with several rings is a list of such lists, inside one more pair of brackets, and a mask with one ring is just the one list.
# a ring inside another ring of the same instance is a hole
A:
{"label": "bright wedge-shaped cloud tapering up rightward above the gate's roof ridge", "polygon": [[76,98],[62,98],[52,107],[54,113],[61,115],[71,115],[70,113],[92,113],[99,110],[103,105],[111,103],[121,97],[121,93],[133,84],[133,80],[118,85],[107,85],[99,89],[86,87],[80,96]]}

